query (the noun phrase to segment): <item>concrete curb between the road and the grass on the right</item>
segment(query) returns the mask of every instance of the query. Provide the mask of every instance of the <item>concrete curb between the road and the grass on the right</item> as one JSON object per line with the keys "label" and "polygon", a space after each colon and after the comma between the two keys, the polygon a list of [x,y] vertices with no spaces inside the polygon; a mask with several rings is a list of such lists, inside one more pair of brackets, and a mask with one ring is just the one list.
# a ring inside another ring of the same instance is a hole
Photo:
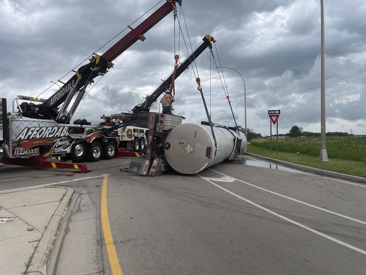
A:
{"label": "concrete curb between the road and the grass on the right", "polygon": [[357,182],[360,182],[360,183],[366,183],[366,178],[364,178],[364,177],[352,176],[352,175],[332,172],[332,171],[328,171],[328,170],[313,168],[313,167],[300,165],[300,164],[295,164],[295,163],[291,163],[291,162],[287,162],[287,161],[281,161],[279,159],[263,157],[261,155],[256,155],[256,154],[247,153],[247,152],[245,152],[244,154],[250,155],[252,157],[261,158],[261,159],[265,159],[265,160],[268,160],[268,161],[276,162],[278,164],[290,166],[290,167],[293,167],[293,168],[306,170],[306,171],[313,172],[313,173],[318,173],[318,174],[322,174],[322,175],[326,175],[326,176],[332,176],[332,177],[339,177],[340,179],[353,180],[353,181],[357,181]]}

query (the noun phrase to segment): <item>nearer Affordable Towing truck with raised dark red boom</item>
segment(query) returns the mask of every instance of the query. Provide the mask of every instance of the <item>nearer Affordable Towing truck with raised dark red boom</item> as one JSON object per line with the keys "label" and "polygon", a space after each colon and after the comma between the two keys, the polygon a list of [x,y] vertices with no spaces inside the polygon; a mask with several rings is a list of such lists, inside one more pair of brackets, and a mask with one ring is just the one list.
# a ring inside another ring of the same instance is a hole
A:
{"label": "nearer Affordable Towing truck with raised dark red boom", "polygon": [[[98,161],[142,155],[121,146],[115,129],[104,125],[70,124],[86,88],[94,78],[104,76],[114,64],[112,61],[136,41],[145,41],[144,34],[171,11],[176,15],[176,4],[181,0],[167,0],[135,29],[121,38],[104,54],[93,52],[89,63],[81,66],[68,81],[48,99],[16,96],[12,110],[1,98],[0,106],[0,162],[31,167],[72,168],[88,172],[84,164],[50,161],[51,157],[82,161]],[[74,103],[68,110],[72,100]],[[20,103],[20,101],[23,101]],[[37,104],[38,103],[38,104]],[[15,106],[18,111],[15,111]],[[128,124],[128,123],[127,123]]]}

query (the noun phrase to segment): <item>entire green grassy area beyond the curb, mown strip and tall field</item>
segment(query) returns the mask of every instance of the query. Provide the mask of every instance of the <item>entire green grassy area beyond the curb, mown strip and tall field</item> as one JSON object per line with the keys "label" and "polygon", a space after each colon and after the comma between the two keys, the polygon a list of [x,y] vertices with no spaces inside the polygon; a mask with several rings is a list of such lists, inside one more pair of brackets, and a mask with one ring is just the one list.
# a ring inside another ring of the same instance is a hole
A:
{"label": "entire green grassy area beyond the curb, mown strip and tall field", "polygon": [[[279,139],[278,155],[276,139],[272,139],[272,155],[269,154],[269,139],[253,139],[247,146],[247,152],[264,157],[366,177],[365,137],[327,137],[326,150],[329,162],[319,162],[320,138],[316,137]],[[299,154],[296,154],[297,152]]]}

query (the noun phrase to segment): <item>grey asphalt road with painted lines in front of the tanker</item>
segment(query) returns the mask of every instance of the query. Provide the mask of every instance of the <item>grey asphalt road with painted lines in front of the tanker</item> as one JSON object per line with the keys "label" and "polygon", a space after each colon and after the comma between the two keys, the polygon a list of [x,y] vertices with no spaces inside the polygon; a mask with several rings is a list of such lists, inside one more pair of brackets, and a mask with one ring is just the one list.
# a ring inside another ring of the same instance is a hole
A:
{"label": "grey asphalt road with painted lines in front of the tanker", "polygon": [[[190,176],[120,172],[128,163],[88,163],[93,172],[73,177],[0,166],[0,191],[61,182],[78,193],[55,274],[112,274],[98,215],[105,174],[109,224],[125,275],[366,274],[364,184],[253,159]],[[76,180],[82,177],[90,178]],[[68,256],[72,242],[80,244],[79,260]]]}

